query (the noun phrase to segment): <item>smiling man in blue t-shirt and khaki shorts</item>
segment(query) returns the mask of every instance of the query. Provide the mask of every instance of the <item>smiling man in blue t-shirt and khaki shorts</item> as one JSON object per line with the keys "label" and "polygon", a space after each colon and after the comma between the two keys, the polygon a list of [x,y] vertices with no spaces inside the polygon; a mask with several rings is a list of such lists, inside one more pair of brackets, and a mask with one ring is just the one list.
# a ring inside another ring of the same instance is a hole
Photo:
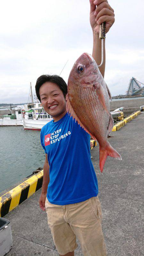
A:
{"label": "smiling man in blue t-shirt and khaki shorts", "polygon": [[[97,8],[96,8],[97,5]],[[114,10],[107,0],[90,0],[93,31],[92,56],[101,62],[99,24],[106,21],[106,33],[114,23]],[[104,63],[100,72],[104,77]],[[53,120],[41,130],[45,151],[44,178],[39,199],[46,210],[53,242],[60,255],[73,256],[79,239],[84,256],[107,255],[98,198],[98,182],[91,161],[90,135],[67,114],[67,84],[60,76],[42,75],[36,81],[36,95]]]}

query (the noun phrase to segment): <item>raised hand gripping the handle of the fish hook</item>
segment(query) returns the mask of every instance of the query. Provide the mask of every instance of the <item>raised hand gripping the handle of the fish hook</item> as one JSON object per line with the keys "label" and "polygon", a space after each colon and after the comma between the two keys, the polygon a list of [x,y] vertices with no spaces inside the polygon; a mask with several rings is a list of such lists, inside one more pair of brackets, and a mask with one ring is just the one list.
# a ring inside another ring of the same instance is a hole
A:
{"label": "raised hand gripping the handle of the fish hook", "polygon": [[92,31],[99,35],[100,24],[106,21],[107,33],[115,21],[114,10],[110,7],[107,0],[90,0],[90,6],[90,23]]}

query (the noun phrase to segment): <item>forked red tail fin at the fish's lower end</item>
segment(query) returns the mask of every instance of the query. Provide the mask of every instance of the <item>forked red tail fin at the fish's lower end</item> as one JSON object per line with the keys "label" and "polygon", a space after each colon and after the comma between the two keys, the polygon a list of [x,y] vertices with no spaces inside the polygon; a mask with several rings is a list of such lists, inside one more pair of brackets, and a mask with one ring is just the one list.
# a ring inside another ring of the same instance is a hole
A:
{"label": "forked red tail fin at the fish's lower end", "polygon": [[107,156],[122,160],[122,157],[118,154],[116,149],[114,149],[108,142],[105,148],[100,148],[100,172],[103,172],[103,167],[106,162]]}

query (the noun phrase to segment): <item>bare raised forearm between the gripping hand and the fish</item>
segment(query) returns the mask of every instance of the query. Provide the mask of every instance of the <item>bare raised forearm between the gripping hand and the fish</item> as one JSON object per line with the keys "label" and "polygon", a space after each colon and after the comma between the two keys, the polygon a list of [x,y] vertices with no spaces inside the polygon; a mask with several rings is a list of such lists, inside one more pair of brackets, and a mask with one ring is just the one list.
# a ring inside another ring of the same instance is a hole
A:
{"label": "bare raised forearm between the gripping hand and the fish", "polygon": [[[103,40],[104,43],[104,51],[103,51],[103,64],[99,67],[101,75],[104,77],[105,74],[105,62],[106,62],[106,53],[105,53],[105,39]],[[96,61],[97,65],[101,63],[101,39],[99,39],[99,35],[93,31],[93,50],[92,50],[92,57]]]}

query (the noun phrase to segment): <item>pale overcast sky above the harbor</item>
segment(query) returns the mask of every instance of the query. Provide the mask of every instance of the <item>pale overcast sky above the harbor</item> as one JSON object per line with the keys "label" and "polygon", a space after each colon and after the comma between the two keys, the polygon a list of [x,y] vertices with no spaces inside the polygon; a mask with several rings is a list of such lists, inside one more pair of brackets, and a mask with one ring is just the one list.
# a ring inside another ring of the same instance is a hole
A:
{"label": "pale overcast sky above the harbor", "polygon": [[[112,96],[125,94],[129,80],[144,83],[144,1],[110,0],[115,23],[106,34],[105,81]],[[68,82],[83,53],[92,54],[89,0],[3,1],[0,10],[0,103],[28,101],[42,74]]]}

